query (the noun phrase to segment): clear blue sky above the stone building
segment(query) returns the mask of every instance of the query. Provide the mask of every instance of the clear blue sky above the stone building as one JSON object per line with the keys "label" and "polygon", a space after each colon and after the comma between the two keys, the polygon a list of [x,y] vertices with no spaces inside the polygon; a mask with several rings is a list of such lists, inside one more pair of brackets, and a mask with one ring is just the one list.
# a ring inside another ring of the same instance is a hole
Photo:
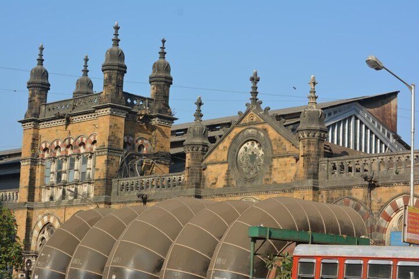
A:
{"label": "clear blue sky above the stone building", "polygon": [[[319,82],[319,101],[400,90],[398,133],[410,143],[409,90],[368,68],[365,59],[376,55],[409,83],[419,83],[418,7],[413,0],[4,1],[0,67],[29,71],[42,42],[50,102],[71,98],[87,53],[99,92],[101,64],[118,21],[125,91],[150,95],[148,76],[166,38],[177,123],[193,120],[198,95],[204,119],[244,111],[249,77],[257,69],[259,98],[272,109],[306,104],[311,75]],[[0,150],[21,146],[17,120],[27,108],[28,78],[29,72],[0,69]]]}

